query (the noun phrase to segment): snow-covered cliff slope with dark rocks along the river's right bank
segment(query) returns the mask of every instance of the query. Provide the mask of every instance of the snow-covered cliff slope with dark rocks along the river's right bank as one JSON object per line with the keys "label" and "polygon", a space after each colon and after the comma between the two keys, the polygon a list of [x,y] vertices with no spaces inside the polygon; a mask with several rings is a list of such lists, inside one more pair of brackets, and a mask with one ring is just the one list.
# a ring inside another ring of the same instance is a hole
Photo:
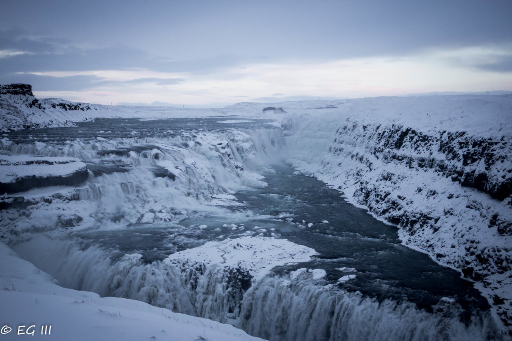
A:
{"label": "snow-covered cliff slope with dark rocks along the river's right bank", "polygon": [[333,106],[285,122],[290,162],[478,282],[512,325],[512,96]]}

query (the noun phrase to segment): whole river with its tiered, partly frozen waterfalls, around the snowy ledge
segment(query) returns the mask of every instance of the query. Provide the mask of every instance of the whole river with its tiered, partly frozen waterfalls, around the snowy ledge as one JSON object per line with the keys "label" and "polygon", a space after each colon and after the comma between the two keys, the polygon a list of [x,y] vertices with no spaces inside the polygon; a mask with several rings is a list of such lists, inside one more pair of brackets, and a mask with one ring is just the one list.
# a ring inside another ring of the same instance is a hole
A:
{"label": "whole river with its tiered, partly frozen waterfalls, around the snowy ledge", "polygon": [[[282,163],[280,129],[217,121],[104,119],[6,134],[12,143],[2,147],[13,154],[78,157],[90,170],[88,183],[71,189],[76,197],[18,219],[11,246],[62,286],[229,322],[271,340],[499,338],[471,282]],[[34,221],[62,207],[82,220],[68,229]],[[29,223],[41,232],[27,233]],[[168,259],[242,236],[283,238],[318,255],[259,281],[242,268]]]}

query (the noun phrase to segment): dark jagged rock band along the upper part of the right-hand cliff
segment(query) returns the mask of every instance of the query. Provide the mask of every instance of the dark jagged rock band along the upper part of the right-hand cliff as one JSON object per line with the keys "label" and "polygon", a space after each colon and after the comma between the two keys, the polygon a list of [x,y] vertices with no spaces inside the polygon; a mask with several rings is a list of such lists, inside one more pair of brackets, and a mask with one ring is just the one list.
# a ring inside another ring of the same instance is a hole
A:
{"label": "dark jagged rock band along the upper part of the right-hand cliff", "polygon": [[[498,200],[512,195],[512,169],[503,168],[505,155],[512,155],[512,144],[505,138],[479,138],[465,132],[440,131],[427,135],[400,125],[387,127],[344,125],[338,129],[331,150],[343,151],[337,141],[342,135],[358,134],[365,140],[376,140],[370,151],[385,163],[401,163],[410,169],[433,169],[443,177],[457,181],[464,187],[476,188]],[[339,147],[338,147],[339,146]],[[428,156],[427,156],[428,155]],[[354,154],[351,158],[365,163],[365,156]],[[506,164],[505,164],[506,165]],[[371,167],[371,165],[368,165]],[[496,174],[505,173],[501,176]]]}

